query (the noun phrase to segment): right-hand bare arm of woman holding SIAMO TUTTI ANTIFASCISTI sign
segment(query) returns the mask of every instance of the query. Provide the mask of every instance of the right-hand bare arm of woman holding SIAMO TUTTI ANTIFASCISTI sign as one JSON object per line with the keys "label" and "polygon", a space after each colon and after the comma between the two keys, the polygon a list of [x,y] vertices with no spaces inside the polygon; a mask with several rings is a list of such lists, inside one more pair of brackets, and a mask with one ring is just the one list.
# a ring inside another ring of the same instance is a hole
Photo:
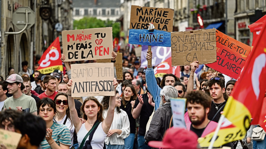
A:
{"label": "right-hand bare arm of woman holding SIAMO TUTTI ANTIFASCISTI sign", "polygon": [[[117,80],[115,78],[114,78],[114,81],[113,81],[113,85],[114,85],[115,90],[116,90],[118,82],[117,82]],[[112,125],[113,118],[114,118],[114,113],[115,113],[115,96],[110,96],[109,108],[108,108],[108,111],[107,111],[107,115],[106,115],[106,118],[104,119],[104,121],[102,123],[102,128],[103,128],[103,130],[104,130],[104,132],[106,134],[108,133],[108,131],[109,131],[111,125]]]}

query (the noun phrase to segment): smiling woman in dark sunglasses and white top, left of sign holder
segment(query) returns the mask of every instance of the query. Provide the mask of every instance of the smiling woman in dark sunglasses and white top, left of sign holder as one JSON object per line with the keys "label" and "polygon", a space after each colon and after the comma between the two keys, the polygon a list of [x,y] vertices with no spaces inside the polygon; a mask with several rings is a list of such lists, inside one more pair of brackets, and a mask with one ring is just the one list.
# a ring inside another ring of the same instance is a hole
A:
{"label": "smiling woman in dark sunglasses and white top, left of sign holder", "polygon": [[70,137],[71,137],[71,146],[69,148],[73,148],[73,134],[75,127],[72,123],[72,120],[70,118],[70,111],[69,111],[69,105],[68,105],[68,97],[67,94],[63,92],[59,92],[55,95],[54,101],[56,104],[56,115],[55,115],[55,121],[59,124],[66,125],[70,131]]}

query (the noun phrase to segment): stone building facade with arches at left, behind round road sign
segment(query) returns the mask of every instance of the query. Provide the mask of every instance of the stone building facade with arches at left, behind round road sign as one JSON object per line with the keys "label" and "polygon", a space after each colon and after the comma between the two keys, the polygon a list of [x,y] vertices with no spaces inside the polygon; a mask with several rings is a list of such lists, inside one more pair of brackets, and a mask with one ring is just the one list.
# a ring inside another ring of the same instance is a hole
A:
{"label": "stone building facade with arches at left, behind round road sign", "polygon": [[[61,31],[73,28],[71,0],[0,0],[0,4],[0,74],[4,79],[9,67],[13,67],[16,73],[22,70],[24,60],[29,63],[28,68],[33,69],[35,56],[41,56],[55,38],[61,36]],[[35,23],[20,34],[6,34],[20,31],[12,22],[13,12],[19,7],[30,7],[35,12]],[[62,27],[56,28],[57,23]]]}

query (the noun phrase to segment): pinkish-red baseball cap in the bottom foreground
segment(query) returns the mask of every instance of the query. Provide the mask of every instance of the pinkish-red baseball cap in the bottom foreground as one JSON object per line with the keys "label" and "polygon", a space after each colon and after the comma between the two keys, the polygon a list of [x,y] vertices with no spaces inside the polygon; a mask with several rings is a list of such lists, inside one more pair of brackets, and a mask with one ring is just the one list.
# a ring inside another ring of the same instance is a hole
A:
{"label": "pinkish-red baseball cap in the bottom foreground", "polygon": [[172,127],[166,131],[162,141],[150,141],[148,145],[150,147],[167,149],[197,149],[197,139],[198,136],[192,131]]}

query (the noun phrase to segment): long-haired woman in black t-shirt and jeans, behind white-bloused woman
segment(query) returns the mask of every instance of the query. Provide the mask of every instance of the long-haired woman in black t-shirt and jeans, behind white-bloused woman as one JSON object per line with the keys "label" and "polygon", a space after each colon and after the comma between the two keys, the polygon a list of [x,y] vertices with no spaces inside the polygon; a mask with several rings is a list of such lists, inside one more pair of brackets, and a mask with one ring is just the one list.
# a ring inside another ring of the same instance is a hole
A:
{"label": "long-haired woman in black t-shirt and jeans, behind white-bloused woman", "polygon": [[132,149],[136,133],[136,119],[132,116],[137,93],[133,85],[127,85],[122,94],[121,109],[124,110],[129,118],[130,134],[125,138],[125,149]]}

